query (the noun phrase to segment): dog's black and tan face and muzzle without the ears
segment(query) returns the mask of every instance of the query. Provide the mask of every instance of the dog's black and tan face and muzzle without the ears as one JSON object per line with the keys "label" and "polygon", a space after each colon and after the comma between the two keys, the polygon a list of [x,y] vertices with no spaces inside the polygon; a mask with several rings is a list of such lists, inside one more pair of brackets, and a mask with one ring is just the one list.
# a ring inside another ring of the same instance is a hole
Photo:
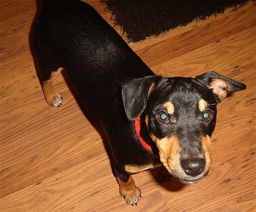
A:
{"label": "dog's black and tan face and muzzle without the ears", "polygon": [[217,103],[211,90],[190,78],[159,80],[148,96],[148,133],[161,162],[183,183],[194,183],[208,173]]}

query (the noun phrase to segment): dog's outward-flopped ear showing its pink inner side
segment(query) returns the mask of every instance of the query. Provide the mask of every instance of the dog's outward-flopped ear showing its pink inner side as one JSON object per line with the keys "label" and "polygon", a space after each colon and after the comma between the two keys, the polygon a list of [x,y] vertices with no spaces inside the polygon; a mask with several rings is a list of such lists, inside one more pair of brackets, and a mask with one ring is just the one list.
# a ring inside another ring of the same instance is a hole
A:
{"label": "dog's outward-flopped ear showing its pink inner side", "polygon": [[197,76],[196,79],[208,86],[221,101],[231,93],[246,88],[244,83],[219,75],[217,72],[207,72]]}

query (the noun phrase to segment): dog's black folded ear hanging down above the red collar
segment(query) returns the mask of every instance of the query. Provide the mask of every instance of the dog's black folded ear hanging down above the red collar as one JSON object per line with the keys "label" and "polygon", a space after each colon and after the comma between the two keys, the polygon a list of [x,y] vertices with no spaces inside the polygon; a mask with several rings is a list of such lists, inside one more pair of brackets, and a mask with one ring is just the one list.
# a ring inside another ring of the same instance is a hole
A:
{"label": "dog's black folded ear hanging down above the red collar", "polygon": [[159,76],[148,76],[129,81],[122,85],[124,110],[129,120],[135,120],[146,108],[148,94]]}

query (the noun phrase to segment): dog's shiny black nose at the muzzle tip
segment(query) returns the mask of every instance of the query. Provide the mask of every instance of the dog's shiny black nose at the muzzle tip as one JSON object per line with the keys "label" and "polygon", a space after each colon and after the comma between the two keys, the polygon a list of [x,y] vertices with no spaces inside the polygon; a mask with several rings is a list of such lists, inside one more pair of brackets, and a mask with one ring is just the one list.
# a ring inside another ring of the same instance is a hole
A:
{"label": "dog's shiny black nose at the muzzle tip", "polygon": [[184,172],[192,177],[200,175],[206,166],[205,159],[181,159],[181,167]]}

